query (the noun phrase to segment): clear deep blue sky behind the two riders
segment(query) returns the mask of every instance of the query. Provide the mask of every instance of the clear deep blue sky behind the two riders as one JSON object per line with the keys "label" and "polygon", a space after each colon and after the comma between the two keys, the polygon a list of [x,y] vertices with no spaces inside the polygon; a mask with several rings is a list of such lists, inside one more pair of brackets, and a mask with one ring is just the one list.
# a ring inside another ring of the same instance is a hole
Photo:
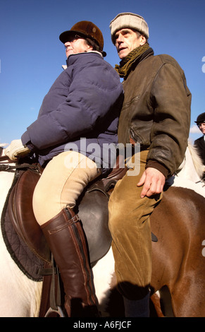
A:
{"label": "clear deep blue sky behind the two riders", "polygon": [[192,93],[190,138],[201,136],[194,121],[205,112],[204,0],[0,0],[0,143],[20,138],[37,118],[66,64],[61,32],[91,20],[103,32],[105,60],[118,64],[109,23],[124,11],[144,16],[155,54],[170,54],[185,71]]}

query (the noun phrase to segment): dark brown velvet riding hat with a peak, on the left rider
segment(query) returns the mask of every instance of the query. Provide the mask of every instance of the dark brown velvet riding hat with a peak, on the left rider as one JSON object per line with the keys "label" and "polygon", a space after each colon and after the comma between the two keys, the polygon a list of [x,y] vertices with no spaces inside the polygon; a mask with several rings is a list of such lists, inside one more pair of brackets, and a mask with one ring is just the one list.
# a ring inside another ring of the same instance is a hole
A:
{"label": "dark brown velvet riding hat with a peak, on the left rider", "polygon": [[104,48],[104,37],[101,33],[101,30],[97,27],[97,25],[94,25],[94,23],[89,22],[87,20],[81,20],[78,23],[75,23],[73,27],[70,30],[64,31],[59,36],[59,39],[63,44],[65,42],[68,42],[68,38],[70,35],[82,35],[82,37],[88,37],[97,42],[97,45],[99,45],[100,52],[103,51]]}

